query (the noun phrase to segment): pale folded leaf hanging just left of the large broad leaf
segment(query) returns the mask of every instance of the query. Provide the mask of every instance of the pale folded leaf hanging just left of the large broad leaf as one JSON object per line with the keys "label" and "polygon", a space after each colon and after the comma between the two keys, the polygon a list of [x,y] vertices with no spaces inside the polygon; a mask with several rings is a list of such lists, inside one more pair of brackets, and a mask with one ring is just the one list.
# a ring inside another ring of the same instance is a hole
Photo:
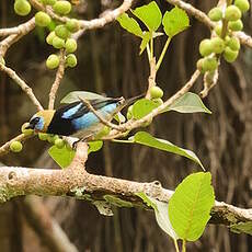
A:
{"label": "pale folded leaf hanging just left of the large broad leaf", "polygon": [[163,203],[156,198],[147,196],[144,192],[137,193],[137,196],[139,196],[144,202],[146,202],[149,206],[151,206],[154,209],[154,216],[159,227],[172,239],[177,240],[179,237],[173,230],[169,219],[168,203]]}

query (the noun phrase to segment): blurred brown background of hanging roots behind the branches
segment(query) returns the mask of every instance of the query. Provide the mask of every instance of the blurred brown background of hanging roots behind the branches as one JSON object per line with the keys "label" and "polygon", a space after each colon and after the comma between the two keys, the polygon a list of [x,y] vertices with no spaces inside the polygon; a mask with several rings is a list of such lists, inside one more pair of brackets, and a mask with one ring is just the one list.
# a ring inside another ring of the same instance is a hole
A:
{"label": "blurred brown background of hanging roots behind the branches", "polygon": [[[75,15],[80,19],[96,18],[121,2],[80,0],[75,7]],[[134,7],[147,2],[135,1]],[[172,8],[165,1],[157,2],[163,13]],[[214,0],[187,2],[205,12],[217,4]],[[13,1],[0,1],[0,27],[11,27],[25,20],[27,18],[14,14]],[[251,11],[244,18],[244,31],[251,34]],[[45,67],[45,59],[55,51],[45,43],[47,34],[46,30],[35,28],[14,44],[5,56],[7,65],[33,88],[44,106],[48,103],[47,93],[55,78],[55,71]],[[191,18],[191,27],[172,41],[157,77],[164,99],[179,90],[194,72],[199,58],[198,44],[209,35],[204,25]],[[157,38],[158,55],[164,39],[162,36]],[[85,32],[78,41],[78,66],[66,70],[58,101],[73,90],[125,98],[145,92],[149,67],[147,56],[138,56],[139,44],[140,41],[121,28],[117,22]],[[157,137],[193,150],[213,174],[216,198],[239,207],[252,207],[251,72],[252,50],[242,46],[234,64],[221,61],[218,84],[204,100],[211,115],[171,112],[156,117],[145,128]],[[201,79],[193,91],[199,93],[202,89]],[[21,125],[34,112],[34,105],[21,89],[0,72],[0,145],[20,134]],[[57,168],[46,152],[48,147],[48,144],[33,138],[25,142],[21,153],[5,154],[0,162]],[[101,151],[90,154],[88,171],[139,182],[159,180],[164,187],[173,190],[183,177],[199,171],[199,167],[179,156],[148,147],[105,142]],[[38,201],[43,202],[79,251],[174,251],[172,240],[158,227],[152,211],[115,208],[113,217],[104,217],[84,201],[62,197]],[[24,197],[0,206],[0,251],[54,251],[42,238],[25,207]],[[188,251],[249,252],[251,248],[251,237],[214,225],[207,226],[201,240],[188,243]]]}

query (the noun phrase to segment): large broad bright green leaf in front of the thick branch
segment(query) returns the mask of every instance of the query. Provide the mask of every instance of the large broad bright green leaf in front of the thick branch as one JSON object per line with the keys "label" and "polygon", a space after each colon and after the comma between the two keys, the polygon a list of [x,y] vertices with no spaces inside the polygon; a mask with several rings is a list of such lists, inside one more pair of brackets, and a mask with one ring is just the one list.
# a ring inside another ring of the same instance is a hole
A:
{"label": "large broad bright green leaf in front of the thick branch", "polygon": [[215,203],[209,172],[186,176],[169,202],[169,216],[173,229],[181,239],[196,241],[210,219]]}

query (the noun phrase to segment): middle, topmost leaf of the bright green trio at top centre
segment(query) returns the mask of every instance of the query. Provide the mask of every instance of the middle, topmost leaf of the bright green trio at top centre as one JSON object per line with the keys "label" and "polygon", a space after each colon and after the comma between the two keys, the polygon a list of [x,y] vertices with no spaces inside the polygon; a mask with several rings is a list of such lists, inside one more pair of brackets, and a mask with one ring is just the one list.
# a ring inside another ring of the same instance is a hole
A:
{"label": "middle, topmost leaf of the bright green trio at top centre", "polygon": [[152,1],[149,4],[136,8],[131,11],[142,23],[149,28],[149,31],[157,31],[161,24],[162,13],[158,4]]}

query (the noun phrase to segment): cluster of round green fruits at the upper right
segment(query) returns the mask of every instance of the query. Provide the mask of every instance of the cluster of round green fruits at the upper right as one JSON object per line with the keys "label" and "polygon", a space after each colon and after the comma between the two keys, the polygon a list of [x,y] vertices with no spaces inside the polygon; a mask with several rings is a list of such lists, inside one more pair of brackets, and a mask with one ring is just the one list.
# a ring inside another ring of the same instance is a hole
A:
{"label": "cluster of round green fruits at the upper right", "polygon": [[197,68],[202,72],[217,69],[218,55],[222,55],[228,62],[233,62],[237,59],[240,42],[232,36],[232,32],[243,28],[241,16],[249,8],[248,0],[234,0],[234,4],[228,5],[225,11],[216,7],[208,12],[209,19],[219,22],[219,24],[215,26],[216,37],[203,39],[199,44],[199,54],[204,58],[197,61]]}

